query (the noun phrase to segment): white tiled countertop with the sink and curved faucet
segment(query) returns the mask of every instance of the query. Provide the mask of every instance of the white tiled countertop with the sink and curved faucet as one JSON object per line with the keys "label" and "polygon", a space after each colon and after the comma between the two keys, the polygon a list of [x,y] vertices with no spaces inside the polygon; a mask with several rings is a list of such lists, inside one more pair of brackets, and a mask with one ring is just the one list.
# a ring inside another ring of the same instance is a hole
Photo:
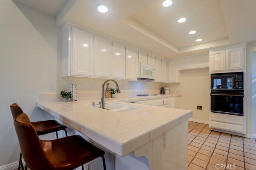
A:
{"label": "white tiled countertop with the sink and curved faucet", "polygon": [[[167,97],[167,95],[166,95]],[[151,97],[135,97],[148,100]],[[152,97],[152,99],[158,96]],[[163,96],[162,96],[163,98]],[[120,99],[129,102],[131,99]],[[137,101],[138,101],[137,100]],[[134,101],[134,99],[132,100]],[[125,156],[192,117],[192,111],[111,101],[140,107],[116,112],[90,106],[95,100],[39,102],[37,106],[86,135],[94,143]],[[105,102],[110,102],[105,100]]]}

